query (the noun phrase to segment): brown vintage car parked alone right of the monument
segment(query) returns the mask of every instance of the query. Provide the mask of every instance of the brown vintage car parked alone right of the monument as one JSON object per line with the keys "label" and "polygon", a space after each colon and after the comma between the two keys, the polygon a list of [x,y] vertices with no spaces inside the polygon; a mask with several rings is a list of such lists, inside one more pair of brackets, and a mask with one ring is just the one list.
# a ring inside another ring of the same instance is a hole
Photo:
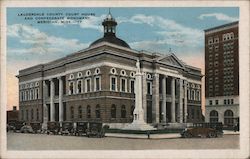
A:
{"label": "brown vintage car parked alone right of the monument", "polygon": [[222,123],[194,123],[192,127],[181,132],[183,138],[191,137],[219,137],[222,136]]}

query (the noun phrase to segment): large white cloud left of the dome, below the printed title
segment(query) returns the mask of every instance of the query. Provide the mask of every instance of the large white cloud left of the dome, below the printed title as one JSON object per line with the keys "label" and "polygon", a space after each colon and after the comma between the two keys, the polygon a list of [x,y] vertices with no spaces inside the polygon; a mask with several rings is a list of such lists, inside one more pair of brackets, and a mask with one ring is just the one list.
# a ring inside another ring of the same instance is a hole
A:
{"label": "large white cloud left of the dome, below the printed title", "polygon": [[20,43],[29,46],[28,49],[8,48],[9,53],[18,54],[53,54],[78,51],[86,48],[88,44],[77,39],[65,39],[41,32],[39,29],[28,25],[13,24],[8,26],[7,35],[17,38]]}

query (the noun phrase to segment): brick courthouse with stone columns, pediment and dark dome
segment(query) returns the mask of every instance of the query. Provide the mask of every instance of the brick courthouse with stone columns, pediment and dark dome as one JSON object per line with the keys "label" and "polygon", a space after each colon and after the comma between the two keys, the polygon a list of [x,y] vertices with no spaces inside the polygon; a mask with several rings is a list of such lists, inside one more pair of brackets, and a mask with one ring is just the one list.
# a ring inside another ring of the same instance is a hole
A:
{"label": "brick courthouse with stone columns, pediment and dark dome", "polygon": [[173,53],[136,51],[116,36],[109,13],[104,36],[88,48],[19,71],[20,120],[130,123],[135,104],[136,61],[143,76],[147,123],[202,119],[201,69]]}

